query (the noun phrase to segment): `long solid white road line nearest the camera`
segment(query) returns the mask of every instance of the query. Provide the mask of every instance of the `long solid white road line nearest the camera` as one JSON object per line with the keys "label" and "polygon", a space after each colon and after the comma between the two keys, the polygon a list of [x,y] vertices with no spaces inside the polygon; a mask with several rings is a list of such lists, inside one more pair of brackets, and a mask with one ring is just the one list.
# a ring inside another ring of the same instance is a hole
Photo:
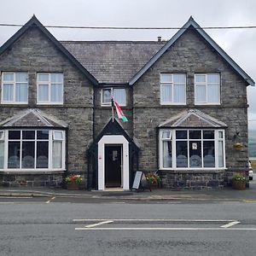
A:
{"label": "long solid white road line nearest the camera", "polygon": [[253,230],[256,228],[75,228],[75,230]]}

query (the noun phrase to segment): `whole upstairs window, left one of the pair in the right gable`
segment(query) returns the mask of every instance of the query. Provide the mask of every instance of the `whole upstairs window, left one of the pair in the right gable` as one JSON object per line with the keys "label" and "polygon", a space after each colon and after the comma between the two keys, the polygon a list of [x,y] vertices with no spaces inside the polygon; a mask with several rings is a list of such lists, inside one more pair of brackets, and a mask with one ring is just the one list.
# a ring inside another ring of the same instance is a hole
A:
{"label": "whole upstairs window, left one of the pair in the right gable", "polygon": [[186,74],[161,73],[160,74],[160,104],[185,105],[186,104]]}

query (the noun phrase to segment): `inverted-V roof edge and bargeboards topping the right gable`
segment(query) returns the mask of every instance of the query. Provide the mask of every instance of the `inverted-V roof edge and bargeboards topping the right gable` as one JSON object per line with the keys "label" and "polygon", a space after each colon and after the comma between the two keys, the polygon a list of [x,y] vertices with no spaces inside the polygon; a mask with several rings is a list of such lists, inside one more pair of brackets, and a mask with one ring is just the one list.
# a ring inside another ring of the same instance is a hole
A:
{"label": "inverted-V roof edge and bargeboards topping the right gable", "polygon": [[143,74],[148,70],[148,68],[152,67],[152,65],[159,60],[160,56],[163,55],[167,49],[169,49],[172,44],[174,44],[178,38],[180,38],[184,32],[187,31],[187,29],[189,29],[190,27],[195,28],[196,32],[198,32],[202,38],[204,38],[208,44],[210,44],[212,46],[213,49],[215,49],[218,54],[224,59],[224,61],[226,61],[230,67],[232,67],[236,73],[238,73],[242,79],[244,79],[247,84],[249,85],[255,85],[255,82],[253,81],[253,79],[251,79],[247,73],[245,73],[241,67],[239,67],[235,61],[233,61],[229,55],[227,55],[223,49],[221,49],[218,44],[216,44],[212,38],[207,34],[207,32],[205,32],[201,26],[199,26],[195,20],[190,17],[189,20],[184,24],[184,26],[166,43],[166,45],[164,45],[151,59],[150,61],[148,61],[148,63],[137,73],[135,74],[129,84],[134,84],[137,82],[138,79],[140,79]]}

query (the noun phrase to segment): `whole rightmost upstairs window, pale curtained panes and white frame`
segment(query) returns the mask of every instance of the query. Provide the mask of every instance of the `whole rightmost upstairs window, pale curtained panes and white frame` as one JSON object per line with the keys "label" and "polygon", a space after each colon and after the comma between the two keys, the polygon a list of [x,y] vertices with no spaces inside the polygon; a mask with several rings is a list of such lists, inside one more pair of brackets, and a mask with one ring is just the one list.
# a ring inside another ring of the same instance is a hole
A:
{"label": "whole rightmost upstairs window, pale curtained panes and white frame", "polygon": [[219,73],[195,74],[195,104],[220,104]]}

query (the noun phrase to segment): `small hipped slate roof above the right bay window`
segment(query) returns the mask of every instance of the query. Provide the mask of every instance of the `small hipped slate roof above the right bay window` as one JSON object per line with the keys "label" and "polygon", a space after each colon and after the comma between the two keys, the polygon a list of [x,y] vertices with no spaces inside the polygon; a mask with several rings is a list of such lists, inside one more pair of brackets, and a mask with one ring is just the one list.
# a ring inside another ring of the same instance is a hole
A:
{"label": "small hipped slate roof above the right bay window", "polygon": [[189,109],[158,125],[160,128],[224,128],[227,125],[198,109]]}

